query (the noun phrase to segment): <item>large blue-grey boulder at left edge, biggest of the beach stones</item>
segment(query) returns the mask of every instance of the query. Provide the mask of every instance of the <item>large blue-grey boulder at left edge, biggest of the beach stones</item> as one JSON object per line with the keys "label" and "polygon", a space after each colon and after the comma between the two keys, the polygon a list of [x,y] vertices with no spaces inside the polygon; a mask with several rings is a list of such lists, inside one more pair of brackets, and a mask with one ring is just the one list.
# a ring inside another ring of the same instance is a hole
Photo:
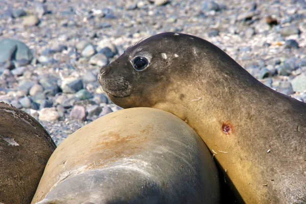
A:
{"label": "large blue-grey boulder at left edge, biggest of the beach stones", "polygon": [[27,45],[18,40],[3,39],[0,41],[0,63],[10,60],[31,61],[33,55]]}

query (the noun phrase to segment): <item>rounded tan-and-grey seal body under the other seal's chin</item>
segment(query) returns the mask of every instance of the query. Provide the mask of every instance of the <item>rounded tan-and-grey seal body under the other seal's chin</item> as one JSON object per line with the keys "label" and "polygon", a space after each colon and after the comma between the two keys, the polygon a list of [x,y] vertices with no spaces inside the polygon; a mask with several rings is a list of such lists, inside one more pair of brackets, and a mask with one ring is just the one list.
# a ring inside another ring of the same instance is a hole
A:
{"label": "rounded tan-and-grey seal body under the other seal's chin", "polygon": [[201,138],[165,111],[107,114],[65,139],[32,203],[218,203],[217,167]]}

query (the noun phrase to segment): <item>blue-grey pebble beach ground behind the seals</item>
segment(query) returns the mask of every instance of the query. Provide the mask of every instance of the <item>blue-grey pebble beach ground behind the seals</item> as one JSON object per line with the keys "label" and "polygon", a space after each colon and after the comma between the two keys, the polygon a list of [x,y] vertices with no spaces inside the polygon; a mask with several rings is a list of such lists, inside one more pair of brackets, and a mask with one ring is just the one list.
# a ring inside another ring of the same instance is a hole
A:
{"label": "blue-grey pebble beach ground behind the seals", "polygon": [[57,144],[120,109],[98,88],[100,67],[162,32],[207,39],[306,102],[304,0],[3,0],[0,8],[0,100],[37,118]]}

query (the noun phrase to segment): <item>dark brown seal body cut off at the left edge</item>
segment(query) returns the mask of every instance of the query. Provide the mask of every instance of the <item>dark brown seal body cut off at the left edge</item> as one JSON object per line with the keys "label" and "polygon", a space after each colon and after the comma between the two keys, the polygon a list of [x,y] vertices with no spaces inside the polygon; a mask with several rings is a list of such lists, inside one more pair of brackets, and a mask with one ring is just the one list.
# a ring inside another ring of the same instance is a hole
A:
{"label": "dark brown seal body cut off at the left edge", "polygon": [[32,116],[0,103],[0,202],[30,203],[55,148]]}

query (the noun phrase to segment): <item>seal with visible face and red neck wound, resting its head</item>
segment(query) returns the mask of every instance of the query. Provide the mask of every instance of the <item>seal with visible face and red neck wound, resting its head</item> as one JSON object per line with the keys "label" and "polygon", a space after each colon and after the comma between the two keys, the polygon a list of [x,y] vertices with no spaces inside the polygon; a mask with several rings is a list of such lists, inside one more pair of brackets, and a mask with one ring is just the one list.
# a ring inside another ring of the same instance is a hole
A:
{"label": "seal with visible face and red neck wound, resting its head", "polygon": [[263,85],[212,43],[158,34],[101,68],[98,81],[122,108],[185,120],[241,202],[306,202],[306,104]]}

